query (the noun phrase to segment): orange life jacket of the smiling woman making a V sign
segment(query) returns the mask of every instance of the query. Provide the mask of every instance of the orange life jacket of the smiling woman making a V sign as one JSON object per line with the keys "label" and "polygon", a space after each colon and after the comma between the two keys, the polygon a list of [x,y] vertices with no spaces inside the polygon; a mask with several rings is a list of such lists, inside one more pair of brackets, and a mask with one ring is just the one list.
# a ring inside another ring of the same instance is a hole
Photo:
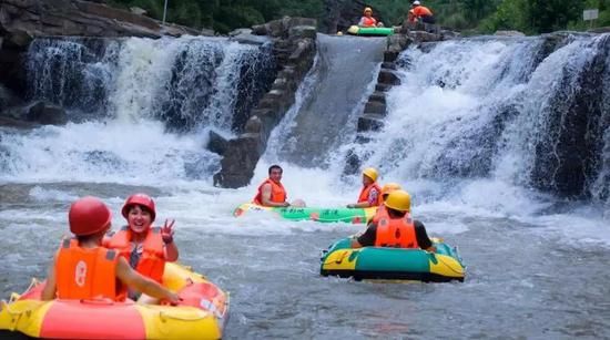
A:
{"label": "orange life jacket of the smiling woman making a V sign", "polygon": [[[165,253],[163,246],[161,228],[149,228],[146,238],[142,245],[142,257],[140,257],[140,261],[138,261],[138,266],[134,268],[141,275],[159,284],[161,284],[163,271],[165,270]],[[119,254],[129,262],[132,251],[131,230],[129,226],[123,226],[121,230],[114,234],[108,243],[108,247],[119,250]]]}

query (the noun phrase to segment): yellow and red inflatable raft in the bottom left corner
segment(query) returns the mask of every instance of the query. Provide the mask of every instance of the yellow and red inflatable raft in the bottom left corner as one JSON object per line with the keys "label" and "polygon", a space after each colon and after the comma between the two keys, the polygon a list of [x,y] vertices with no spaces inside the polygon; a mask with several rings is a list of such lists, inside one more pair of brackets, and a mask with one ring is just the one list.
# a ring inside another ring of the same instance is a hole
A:
{"label": "yellow and red inflatable raft in the bottom left corner", "polygon": [[177,291],[179,306],[111,300],[41,301],[44,284],[32,281],[23,295],[2,301],[0,334],[21,332],[54,339],[220,339],[228,295],[191,269],[166,264],[163,285]]}

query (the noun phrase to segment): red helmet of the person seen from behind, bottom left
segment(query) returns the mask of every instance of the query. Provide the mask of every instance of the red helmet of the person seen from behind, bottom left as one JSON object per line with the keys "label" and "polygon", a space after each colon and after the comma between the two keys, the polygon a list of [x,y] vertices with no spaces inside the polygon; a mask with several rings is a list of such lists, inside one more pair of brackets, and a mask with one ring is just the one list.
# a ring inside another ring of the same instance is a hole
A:
{"label": "red helmet of the person seen from behind, bottom left", "polygon": [[95,197],[84,197],[72,203],[68,213],[70,231],[77,236],[103,231],[112,219],[108,206]]}

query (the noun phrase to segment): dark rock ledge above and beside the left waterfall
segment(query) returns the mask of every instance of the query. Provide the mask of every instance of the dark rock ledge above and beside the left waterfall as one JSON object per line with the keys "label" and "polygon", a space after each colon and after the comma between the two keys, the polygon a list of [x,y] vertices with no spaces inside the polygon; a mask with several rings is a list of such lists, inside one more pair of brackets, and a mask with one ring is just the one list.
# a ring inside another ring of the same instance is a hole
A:
{"label": "dark rock ledge above and beside the left waterfall", "polygon": [[[0,116],[7,120],[27,120],[27,109],[14,99],[8,101],[7,91],[26,93],[26,53],[37,37],[179,37],[182,34],[209,34],[190,28],[161,22],[114,9],[102,3],[81,0],[0,0]],[[213,32],[212,32],[213,34]],[[16,95],[13,95],[14,97]],[[23,99],[20,99],[23,101]],[[57,109],[57,107],[55,107]],[[34,121],[49,121],[47,107]],[[62,115],[63,116],[63,115]],[[52,123],[61,123],[63,119]]]}

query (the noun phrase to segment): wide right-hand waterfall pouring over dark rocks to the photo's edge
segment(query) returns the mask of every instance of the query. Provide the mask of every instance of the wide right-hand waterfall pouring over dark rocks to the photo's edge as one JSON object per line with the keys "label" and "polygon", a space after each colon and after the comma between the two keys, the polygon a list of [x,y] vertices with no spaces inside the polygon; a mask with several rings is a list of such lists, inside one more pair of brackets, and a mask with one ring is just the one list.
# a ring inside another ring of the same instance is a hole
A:
{"label": "wide right-hand waterfall pouring over dark rocks to the photo's edge", "polygon": [[359,156],[390,177],[489,178],[608,199],[609,37],[456,40],[400,55],[385,128]]}

